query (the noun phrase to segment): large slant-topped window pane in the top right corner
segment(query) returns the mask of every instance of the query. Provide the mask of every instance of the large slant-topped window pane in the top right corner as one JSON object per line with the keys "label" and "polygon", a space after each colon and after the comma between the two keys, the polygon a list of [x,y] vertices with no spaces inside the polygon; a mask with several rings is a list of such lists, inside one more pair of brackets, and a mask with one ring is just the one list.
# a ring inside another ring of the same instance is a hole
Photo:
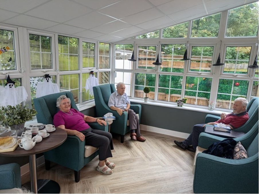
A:
{"label": "large slant-topped window pane in the top right corner", "polygon": [[229,10],[226,37],[257,36],[258,2]]}

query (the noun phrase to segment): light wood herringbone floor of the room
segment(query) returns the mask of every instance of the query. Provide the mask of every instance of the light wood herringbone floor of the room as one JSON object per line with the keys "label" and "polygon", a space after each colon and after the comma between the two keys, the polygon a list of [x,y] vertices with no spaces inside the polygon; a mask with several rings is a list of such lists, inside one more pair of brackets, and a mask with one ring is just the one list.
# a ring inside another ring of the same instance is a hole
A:
{"label": "light wood herringbone floor of the room", "polygon": [[[81,169],[79,183],[74,171],[53,164],[49,171],[38,167],[38,179],[52,179],[59,183],[60,193],[193,193],[194,153],[178,148],[172,136],[142,131],[146,142],[130,140],[125,135],[120,143],[113,134],[113,174],[96,170],[98,157]],[[29,173],[28,173],[29,174]],[[30,177],[22,177],[22,184]]]}

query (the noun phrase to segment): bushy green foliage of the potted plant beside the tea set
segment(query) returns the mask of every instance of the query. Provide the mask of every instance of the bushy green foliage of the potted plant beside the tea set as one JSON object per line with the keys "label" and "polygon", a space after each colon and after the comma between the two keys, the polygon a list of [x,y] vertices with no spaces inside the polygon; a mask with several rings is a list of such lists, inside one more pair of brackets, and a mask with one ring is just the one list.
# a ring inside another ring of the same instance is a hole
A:
{"label": "bushy green foliage of the potted plant beside the tea set", "polygon": [[4,118],[2,122],[4,126],[12,126],[32,120],[32,117],[35,116],[36,113],[35,109],[29,109],[17,104],[16,106],[2,106],[0,116]]}

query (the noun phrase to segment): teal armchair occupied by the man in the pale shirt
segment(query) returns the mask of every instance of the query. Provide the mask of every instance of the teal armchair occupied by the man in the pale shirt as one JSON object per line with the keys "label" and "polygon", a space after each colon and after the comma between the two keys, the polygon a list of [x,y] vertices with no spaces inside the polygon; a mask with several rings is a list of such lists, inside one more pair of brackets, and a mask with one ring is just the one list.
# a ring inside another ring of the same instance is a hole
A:
{"label": "teal armchair occupied by the man in the pale shirt", "polygon": [[[114,84],[103,84],[99,86],[93,87],[93,93],[95,97],[95,109],[97,116],[103,116],[108,112],[111,112],[113,116],[116,117],[111,124],[111,132],[120,134],[121,136],[121,143],[124,142],[124,135],[129,132],[129,126],[127,126],[128,120],[128,113],[123,111],[122,115],[120,116],[117,111],[111,110],[108,107],[108,102],[111,94],[115,92]],[[141,119],[141,105],[130,105],[130,108],[134,110],[137,114],[139,114],[139,122]]]}

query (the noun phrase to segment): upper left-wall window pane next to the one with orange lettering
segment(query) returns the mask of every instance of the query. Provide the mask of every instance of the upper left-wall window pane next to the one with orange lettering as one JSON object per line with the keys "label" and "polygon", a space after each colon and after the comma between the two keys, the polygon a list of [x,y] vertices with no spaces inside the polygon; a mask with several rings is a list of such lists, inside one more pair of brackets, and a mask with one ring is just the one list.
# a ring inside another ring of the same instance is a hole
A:
{"label": "upper left-wall window pane next to the one with orange lettering", "polygon": [[51,69],[51,37],[29,34],[32,69]]}

